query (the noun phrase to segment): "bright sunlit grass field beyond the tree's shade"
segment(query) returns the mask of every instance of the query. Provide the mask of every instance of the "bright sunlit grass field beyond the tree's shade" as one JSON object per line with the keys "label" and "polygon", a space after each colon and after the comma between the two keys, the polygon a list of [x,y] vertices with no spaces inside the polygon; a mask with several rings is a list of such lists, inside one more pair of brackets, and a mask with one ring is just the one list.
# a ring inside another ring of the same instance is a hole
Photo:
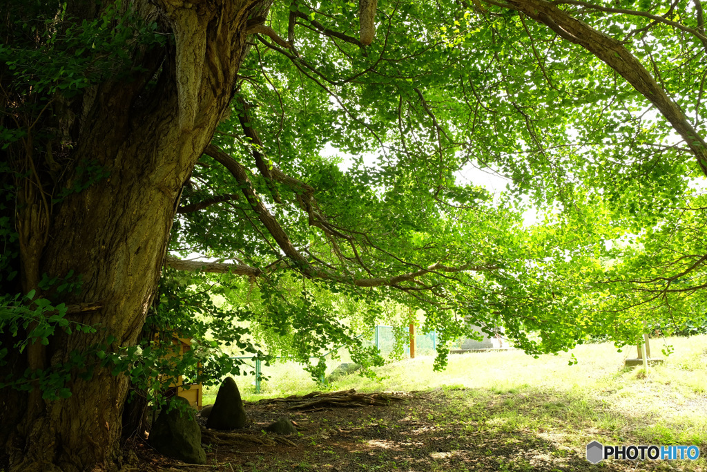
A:
{"label": "bright sunlit grass field beyond the tree's shade", "polygon": [[[503,408],[486,425],[542,431],[554,440],[585,447],[602,444],[695,444],[707,454],[707,335],[668,338],[669,357],[661,340],[651,343],[653,357],[665,363],[643,369],[624,368],[624,352],[609,344],[534,359],[523,352],[480,352],[450,356],[445,372],[433,372],[431,357],[411,359],[379,369],[379,381],[348,376],[335,389],[416,391],[445,386],[466,390],[464,408],[483,415],[503,396]],[[707,464],[704,459],[701,466]],[[698,465],[698,464],[695,464]],[[697,470],[697,469],[695,469]]]}

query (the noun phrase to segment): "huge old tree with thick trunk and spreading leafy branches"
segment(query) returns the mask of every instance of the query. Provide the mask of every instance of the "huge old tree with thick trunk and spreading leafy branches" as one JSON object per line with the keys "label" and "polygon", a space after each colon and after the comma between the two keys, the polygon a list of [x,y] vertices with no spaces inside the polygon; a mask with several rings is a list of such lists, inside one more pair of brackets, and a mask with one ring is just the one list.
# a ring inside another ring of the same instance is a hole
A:
{"label": "huge old tree with thick trunk and spreading leafy branches", "polygon": [[[170,241],[260,289],[296,273],[300,308],[307,284],[347,287],[424,306],[443,340],[463,334],[457,313],[503,323],[531,353],[640,331],[609,330],[613,309],[585,292],[624,284],[597,263],[615,255],[605,239],[662,234],[662,272],[629,297],[701,273],[699,241],[675,255],[661,232],[701,214],[701,1],[377,6],[368,46],[344,2],[6,6],[0,369],[30,391],[0,391],[11,468],[115,460],[134,364],[110,359],[134,347],[165,263],[203,265]],[[357,156],[348,171],[327,144]],[[467,165],[561,217],[522,231],[512,201],[457,183]],[[288,306],[274,326],[301,318]],[[321,315],[315,347],[346,337]]]}

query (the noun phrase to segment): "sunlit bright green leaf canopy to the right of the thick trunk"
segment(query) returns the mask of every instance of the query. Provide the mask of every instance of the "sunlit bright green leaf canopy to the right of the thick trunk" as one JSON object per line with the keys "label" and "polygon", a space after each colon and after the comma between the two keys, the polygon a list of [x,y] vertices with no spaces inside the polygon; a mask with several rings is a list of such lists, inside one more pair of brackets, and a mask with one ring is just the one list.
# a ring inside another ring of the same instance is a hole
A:
{"label": "sunlit bright green leaf canopy to the right of the thick trunk", "polygon": [[[346,288],[366,292],[361,297],[368,301],[359,317],[346,323],[381,318],[372,311],[384,303],[421,309],[424,329],[438,332],[436,367],[442,368],[445,348],[472,335],[467,321],[487,329],[505,326],[517,347],[537,356],[597,336],[608,336],[617,347],[633,343],[645,329],[645,311],[655,320],[692,316],[677,309],[672,301],[677,296],[662,304],[670,306],[664,311],[660,298],[643,306],[636,282],[621,280],[629,274],[648,277],[647,259],[667,267],[646,241],[658,243],[658,231],[667,237],[678,230],[663,221],[679,222],[678,231],[685,227],[678,207],[691,198],[689,178],[698,168],[684,149],[664,144],[670,125],[660,115],[646,114],[645,98],[597,57],[580,47],[556,47],[549,28],[493,6],[481,12],[452,2],[437,8],[382,5],[379,13],[390,21],[366,50],[320,33],[356,37],[346,6],[327,4],[314,11],[302,4],[298,12],[310,28],[298,25],[297,53],[257,38],[241,69],[248,79],[240,99],[250,104],[247,126],[257,129],[262,141],[257,150],[314,188],[328,221],[353,242],[339,238],[334,246],[332,238],[312,228],[310,214],[274,205],[268,183],[252,171],[255,190],[272,205],[291,241],[306,248],[312,263],[324,261],[352,280],[370,277],[367,267],[385,277],[439,261],[482,266],[428,275],[423,279],[428,292],[410,285],[404,292]],[[286,30],[289,13],[271,10],[275,30]],[[703,113],[699,91],[687,86],[690,74],[704,71],[698,42],[672,42],[672,33],[661,28],[652,38],[632,41],[631,31],[647,27],[646,18],[624,16],[619,22],[598,11],[577,14],[617,38],[629,38],[629,50],[652,64],[666,90]],[[669,57],[680,57],[679,66]],[[241,134],[236,117],[244,113],[234,106],[214,142],[252,169],[253,144],[233,139]],[[337,157],[324,152],[327,146],[346,153],[348,168],[335,165]],[[204,163],[209,167],[195,170],[199,185],[187,188],[187,202],[204,200],[216,189],[238,194],[228,173],[210,159]],[[462,184],[455,172],[464,166],[505,175],[508,192],[495,198],[484,188]],[[300,188],[286,183],[276,188],[288,202],[301,195]],[[522,225],[521,197],[544,209],[542,224]],[[666,205],[674,207],[673,216]],[[238,231],[226,234],[224,226]],[[187,214],[176,231],[179,243],[173,248],[184,248],[184,255],[197,251],[229,258],[235,252],[255,267],[281,258],[244,199],[229,202],[226,211]],[[633,248],[645,248],[641,260],[629,257],[631,246],[618,242],[636,234],[641,240]],[[694,245],[703,241],[685,237]],[[671,251],[675,246],[665,248],[665,256]],[[358,258],[361,263],[354,263]],[[269,287],[286,290],[288,303],[294,303],[293,289],[281,280],[274,277]],[[312,313],[300,313],[318,318],[317,304],[342,290],[340,284],[326,285],[315,297],[301,299]],[[288,330],[297,333],[305,326],[288,324],[297,320],[284,315],[290,308],[268,303],[263,309],[274,318],[263,331],[269,334],[262,335],[271,345],[283,336],[282,345],[294,350],[303,343],[323,347],[315,337],[292,335]],[[397,329],[402,333],[402,325]]]}

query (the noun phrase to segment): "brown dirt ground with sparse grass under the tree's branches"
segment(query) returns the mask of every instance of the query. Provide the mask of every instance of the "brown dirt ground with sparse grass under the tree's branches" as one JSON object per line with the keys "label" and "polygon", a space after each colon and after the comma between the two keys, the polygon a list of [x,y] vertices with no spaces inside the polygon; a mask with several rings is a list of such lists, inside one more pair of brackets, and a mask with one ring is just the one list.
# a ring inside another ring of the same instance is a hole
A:
{"label": "brown dirt ground with sparse grass under the tree's branches", "polygon": [[[463,392],[461,392],[463,394]],[[166,458],[146,444],[129,444],[124,471],[636,471],[675,470],[665,462],[604,461],[559,446],[537,431],[499,430],[493,415],[460,415],[460,391],[392,393],[403,401],[386,406],[286,410],[291,403],[246,403],[250,423],[205,444],[207,465]],[[298,434],[275,442],[263,432],[278,418],[295,422]],[[203,422],[202,422],[203,425]],[[233,439],[235,438],[235,439]],[[244,439],[245,438],[245,439]],[[259,444],[262,442],[263,444]]]}

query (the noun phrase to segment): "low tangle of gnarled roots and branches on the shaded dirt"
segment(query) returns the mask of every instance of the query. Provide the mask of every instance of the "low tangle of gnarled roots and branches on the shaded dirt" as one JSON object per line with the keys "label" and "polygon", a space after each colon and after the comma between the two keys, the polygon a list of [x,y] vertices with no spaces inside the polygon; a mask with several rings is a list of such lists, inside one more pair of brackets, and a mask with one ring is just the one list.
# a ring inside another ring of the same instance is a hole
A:
{"label": "low tangle of gnarled roots and branches on the shaded dirt", "polygon": [[257,402],[259,405],[272,403],[293,403],[286,410],[320,410],[322,408],[360,408],[363,406],[387,406],[392,401],[402,401],[399,396],[390,393],[356,393],[354,388],[338,392],[312,392],[305,396],[288,396],[286,398],[266,398]]}

